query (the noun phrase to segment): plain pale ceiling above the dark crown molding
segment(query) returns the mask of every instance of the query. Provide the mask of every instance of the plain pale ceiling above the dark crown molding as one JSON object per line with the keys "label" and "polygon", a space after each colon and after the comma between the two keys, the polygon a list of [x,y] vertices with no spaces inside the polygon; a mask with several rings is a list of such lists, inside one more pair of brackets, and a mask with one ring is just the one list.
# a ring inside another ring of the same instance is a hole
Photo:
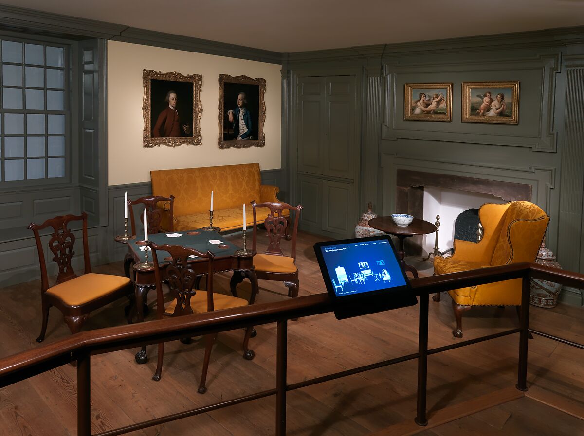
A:
{"label": "plain pale ceiling above the dark crown molding", "polygon": [[584,0],[0,0],[278,52],[584,24]]}

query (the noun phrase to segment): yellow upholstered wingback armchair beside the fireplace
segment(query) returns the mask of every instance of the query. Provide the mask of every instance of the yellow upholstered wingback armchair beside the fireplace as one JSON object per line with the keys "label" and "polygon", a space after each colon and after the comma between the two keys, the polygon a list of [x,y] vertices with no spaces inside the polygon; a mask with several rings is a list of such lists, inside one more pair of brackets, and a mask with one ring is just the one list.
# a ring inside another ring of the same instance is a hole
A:
{"label": "yellow upholstered wingback armchair beside the fireplace", "polygon": [[[508,263],[535,262],[550,217],[528,201],[479,209],[484,237],[479,242],[454,240],[454,254],[434,258],[434,273],[447,274]],[[449,291],[456,316],[455,337],[463,337],[462,312],[473,305],[521,305],[521,279]],[[439,294],[435,301],[439,301]]]}

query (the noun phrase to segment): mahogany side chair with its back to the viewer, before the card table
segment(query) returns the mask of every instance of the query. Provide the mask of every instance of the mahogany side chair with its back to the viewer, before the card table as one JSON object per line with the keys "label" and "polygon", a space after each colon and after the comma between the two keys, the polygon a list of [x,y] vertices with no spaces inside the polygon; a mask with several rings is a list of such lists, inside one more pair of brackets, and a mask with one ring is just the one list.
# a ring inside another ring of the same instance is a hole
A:
{"label": "mahogany side chair with its back to the viewer, before the card table", "polygon": [[[237,298],[230,295],[218,294],[213,292],[213,259],[215,255],[207,251],[202,253],[193,248],[182,247],[180,245],[157,245],[154,242],[148,242],[152,249],[152,258],[154,262],[154,276],[157,290],[157,314],[158,318],[179,317],[182,315],[192,315],[197,313],[212,312],[215,310],[228,309],[232,307],[243,307],[248,305],[244,298]],[[170,256],[168,256],[170,255]],[[162,257],[159,259],[159,256]],[[197,274],[190,268],[191,259],[197,256],[197,261],[207,262],[207,290],[194,289]],[[164,259],[164,260],[163,260]],[[206,259],[206,260],[204,260]],[[161,265],[161,261],[164,262]],[[168,262],[168,263],[166,263]],[[174,297],[169,303],[164,303],[162,292],[163,279],[168,279],[168,287],[171,295]],[[249,338],[251,337],[253,327],[245,330],[244,336],[244,358],[252,360],[255,353],[248,349]],[[199,393],[207,392],[206,379],[207,368],[211,357],[213,343],[217,339],[217,333],[205,336],[206,348],[203,360],[203,373],[199,383]],[[162,376],[162,359],[164,358],[164,342],[158,344],[158,364],[156,372],[152,377],[153,380],[159,381]]]}

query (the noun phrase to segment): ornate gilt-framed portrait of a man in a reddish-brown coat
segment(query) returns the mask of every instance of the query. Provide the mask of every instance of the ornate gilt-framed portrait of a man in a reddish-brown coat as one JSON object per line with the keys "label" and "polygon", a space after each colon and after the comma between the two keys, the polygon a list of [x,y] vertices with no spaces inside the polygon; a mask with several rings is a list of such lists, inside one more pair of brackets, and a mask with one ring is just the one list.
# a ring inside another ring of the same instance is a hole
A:
{"label": "ornate gilt-framed portrait of a man in a reddish-brown coat", "polygon": [[144,69],[142,82],[143,146],[201,145],[203,76]]}

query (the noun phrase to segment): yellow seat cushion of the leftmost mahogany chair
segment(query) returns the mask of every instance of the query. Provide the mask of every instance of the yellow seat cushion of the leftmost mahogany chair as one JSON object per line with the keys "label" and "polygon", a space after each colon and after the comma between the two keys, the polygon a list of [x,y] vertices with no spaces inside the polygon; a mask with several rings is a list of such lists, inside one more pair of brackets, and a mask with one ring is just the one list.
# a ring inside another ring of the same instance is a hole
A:
{"label": "yellow seat cushion of the leftmost mahogany chair", "polygon": [[[87,273],[47,289],[47,294],[75,307],[97,300],[130,284],[128,277]],[[80,292],[82,290],[82,292]]]}

